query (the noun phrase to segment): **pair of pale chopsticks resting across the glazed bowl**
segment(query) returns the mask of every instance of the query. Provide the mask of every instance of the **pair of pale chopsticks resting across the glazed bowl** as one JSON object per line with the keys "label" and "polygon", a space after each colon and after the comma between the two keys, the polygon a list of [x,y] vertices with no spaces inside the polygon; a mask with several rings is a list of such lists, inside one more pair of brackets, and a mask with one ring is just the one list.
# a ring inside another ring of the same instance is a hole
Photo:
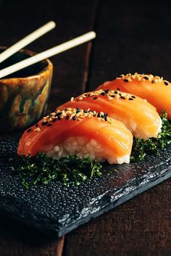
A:
{"label": "pair of pale chopsticks resting across the glazed bowl", "polygon": [[[56,27],[55,22],[51,21],[46,23],[46,25],[43,25],[41,28],[38,28],[38,30],[34,31],[33,33],[30,33],[30,35],[26,36],[25,38],[23,38],[22,40],[14,44],[13,46],[9,47],[7,50],[3,51],[0,54],[0,63],[3,62],[5,59],[9,58],[10,56],[12,56],[12,54],[16,53],[17,51],[27,46],[31,42],[35,41],[37,38],[43,36],[44,34],[46,34],[47,32],[49,32],[55,27]],[[87,41],[90,41],[95,37],[96,37],[96,33],[91,31],[84,34],[83,36],[78,36],[77,38],[73,38],[72,40],[67,41],[64,44],[59,44],[58,46],[54,46],[51,49],[41,52],[40,54],[36,54],[33,57],[29,57],[28,59],[24,59],[21,62],[17,62],[14,65],[11,65],[9,67],[4,68],[3,70],[0,70],[0,78],[4,78],[4,76],[10,75],[18,70],[22,70],[23,68],[33,65],[37,62],[40,62],[43,59],[47,59],[63,51],[67,51],[68,49],[71,49],[75,46],[86,43]]]}

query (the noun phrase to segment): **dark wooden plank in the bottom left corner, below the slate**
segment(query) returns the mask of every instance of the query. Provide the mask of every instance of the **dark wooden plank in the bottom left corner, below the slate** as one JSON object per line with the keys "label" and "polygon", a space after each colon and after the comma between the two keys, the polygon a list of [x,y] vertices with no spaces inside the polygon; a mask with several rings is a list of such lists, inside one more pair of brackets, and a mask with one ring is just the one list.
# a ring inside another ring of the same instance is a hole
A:
{"label": "dark wooden plank in the bottom left corner, below the slate", "polygon": [[1,256],[62,256],[64,237],[50,238],[4,216],[0,226]]}

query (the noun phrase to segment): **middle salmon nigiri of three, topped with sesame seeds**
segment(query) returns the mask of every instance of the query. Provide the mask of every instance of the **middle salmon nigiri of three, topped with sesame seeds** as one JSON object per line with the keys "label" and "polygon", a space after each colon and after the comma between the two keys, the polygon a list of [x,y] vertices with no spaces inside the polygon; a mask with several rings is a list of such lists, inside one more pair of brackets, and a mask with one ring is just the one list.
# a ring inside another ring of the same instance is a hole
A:
{"label": "middle salmon nigiri of three, topped with sesame seeds", "polygon": [[82,109],[107,112],[110,117],[122,121],[140,139],[157,138],[162,127],[162,120],[146,99],[133,94],[123,93],[120,90],[98,90],[71,98],[61,108],[80,107]]}

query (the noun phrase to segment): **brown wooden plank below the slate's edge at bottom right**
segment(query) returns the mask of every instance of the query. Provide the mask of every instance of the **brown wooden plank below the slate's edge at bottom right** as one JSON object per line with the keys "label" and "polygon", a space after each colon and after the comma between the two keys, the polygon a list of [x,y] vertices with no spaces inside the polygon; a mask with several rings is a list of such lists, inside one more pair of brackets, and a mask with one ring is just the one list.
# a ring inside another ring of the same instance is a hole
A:
{"label": "brown wooden plank below the slate's edge at bottom right", "polygon": [[170,189],[166,181],[72,231],[64,255],[171,255]]}

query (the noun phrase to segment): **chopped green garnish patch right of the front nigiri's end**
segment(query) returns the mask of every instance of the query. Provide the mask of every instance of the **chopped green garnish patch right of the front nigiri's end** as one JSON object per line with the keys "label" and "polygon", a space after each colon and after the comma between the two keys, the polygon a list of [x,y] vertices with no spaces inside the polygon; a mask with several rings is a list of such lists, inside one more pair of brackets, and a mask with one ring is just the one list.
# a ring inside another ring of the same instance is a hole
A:
{"label": "chopped green garnish patch right of the front nigiri's end", "polygon": [[143,139],[134,138],[133,150],[130,156],[131,162],[144,160],[147,154],[157,154],[159,149],[163,149],[167,144],[171,143],[171,122],[167,120],[167,112],[163,111],[162,115],[162,131],[158,138]]}

